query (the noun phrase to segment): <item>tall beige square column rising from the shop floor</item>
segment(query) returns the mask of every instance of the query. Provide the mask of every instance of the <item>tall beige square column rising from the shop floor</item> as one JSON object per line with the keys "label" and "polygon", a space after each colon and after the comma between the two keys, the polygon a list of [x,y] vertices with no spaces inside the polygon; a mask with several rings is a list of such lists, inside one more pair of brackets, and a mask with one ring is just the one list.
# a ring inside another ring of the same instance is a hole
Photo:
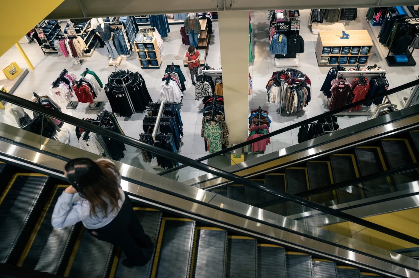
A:
{"label": "tall beige square column rising from the shop floor", "polygon": [[237,144],[248,137],[249,12],[219,11],[218,29],[225,121],[230,144]]}

